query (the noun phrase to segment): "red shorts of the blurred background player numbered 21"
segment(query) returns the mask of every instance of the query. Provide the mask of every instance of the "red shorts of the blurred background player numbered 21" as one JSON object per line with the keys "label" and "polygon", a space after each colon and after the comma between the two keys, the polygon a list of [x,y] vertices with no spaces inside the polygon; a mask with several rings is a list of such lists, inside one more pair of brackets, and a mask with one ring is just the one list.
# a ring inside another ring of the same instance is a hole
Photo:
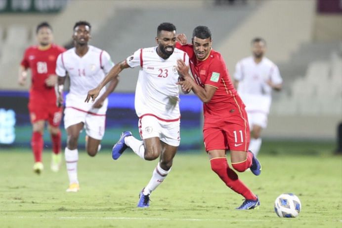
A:
{"label": "red shorts of the blurred background player numbered 21", "polygon": [[62,108],[58,108],[56,104],[42,104],[30,100],[29,113],[31,123],[38,120],[46,120],[50,126],[58,127],[62,119]]}

